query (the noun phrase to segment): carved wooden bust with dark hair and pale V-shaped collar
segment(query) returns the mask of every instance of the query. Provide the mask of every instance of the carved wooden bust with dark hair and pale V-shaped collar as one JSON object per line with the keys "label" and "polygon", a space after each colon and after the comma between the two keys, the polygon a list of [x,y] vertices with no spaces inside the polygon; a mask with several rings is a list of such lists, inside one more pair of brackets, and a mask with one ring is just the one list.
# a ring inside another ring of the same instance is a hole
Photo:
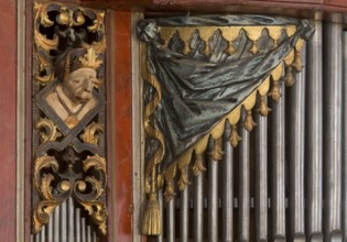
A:
{"label": "carved wooden bust with dark hair and pale V-shaped collar", "polygon": [[59,82],[45,97],[48,106],[73,129],[97,103],[93,89],[100,85],[94,50],[73,48],[56,61]]}

